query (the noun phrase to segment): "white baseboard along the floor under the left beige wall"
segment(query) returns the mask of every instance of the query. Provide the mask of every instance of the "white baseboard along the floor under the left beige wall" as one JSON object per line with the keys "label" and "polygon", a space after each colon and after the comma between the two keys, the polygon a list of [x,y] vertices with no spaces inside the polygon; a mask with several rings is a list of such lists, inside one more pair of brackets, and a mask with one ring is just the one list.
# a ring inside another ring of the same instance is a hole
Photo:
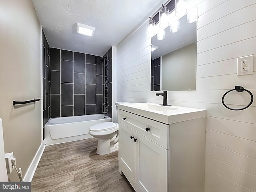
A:
{"label": "white baseboard along the floor under the left beige wall", "polygon": [[34,156],[34,159],[32,160],[23,180],[26,181],[26,182],[31,182],[32,179],[33,179],[33,176],[36,172],[36,168],[38,166],[38,163],[42,157],[42,154],[44,152],[44,148],[45,148],[45,144],[44,144],[44,140],[43,142],[41,143],[40,147],[38,148],[37,152],[36,152],[36,155]]}

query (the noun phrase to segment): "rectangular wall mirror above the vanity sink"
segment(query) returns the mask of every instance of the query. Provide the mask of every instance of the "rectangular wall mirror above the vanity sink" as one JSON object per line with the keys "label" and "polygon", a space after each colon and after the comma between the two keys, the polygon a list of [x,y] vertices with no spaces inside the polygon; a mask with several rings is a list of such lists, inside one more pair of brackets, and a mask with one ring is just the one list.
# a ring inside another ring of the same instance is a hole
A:
{"label": "rectangular wall mirror above the vanity sink", "polygon": [[179,21],[178,32],[169,26],[163,40],[151,38],[151,91],[196,90],[196,22]]}

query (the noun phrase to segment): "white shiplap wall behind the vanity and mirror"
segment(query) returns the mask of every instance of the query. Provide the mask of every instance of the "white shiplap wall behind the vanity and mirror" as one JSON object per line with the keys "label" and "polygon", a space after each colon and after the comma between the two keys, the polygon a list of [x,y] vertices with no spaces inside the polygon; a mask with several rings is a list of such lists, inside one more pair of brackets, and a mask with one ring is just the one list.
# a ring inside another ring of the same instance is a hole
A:
{"label": "white shiplap wall behind the vanity and mirror", "polygon": [[[256,98],[256,0],[204,0],[198,4],[196,91],[169,91],[168,104],[207,110],[205,192],[256,191],[256,99],[242,111],[221,103],[235,85]],[[162,103],[150,92],[146,24],[117,46],[117,101]],[[236,76],[236,58],[254,55],[254,74]],[[226,104],[242,108],[246,92]]]}

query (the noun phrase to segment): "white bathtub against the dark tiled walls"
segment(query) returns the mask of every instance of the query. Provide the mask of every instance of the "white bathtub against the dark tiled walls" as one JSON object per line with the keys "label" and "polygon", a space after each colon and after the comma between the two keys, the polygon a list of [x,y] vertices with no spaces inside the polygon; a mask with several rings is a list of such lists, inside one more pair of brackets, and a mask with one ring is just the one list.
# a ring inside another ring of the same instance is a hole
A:
{"label": "white bathtub against the dark tiled walls", "polygon": [[111,122],[102,114],[50,118],[45,124],[46,145],[92,138],[89,128],[95,124]]}

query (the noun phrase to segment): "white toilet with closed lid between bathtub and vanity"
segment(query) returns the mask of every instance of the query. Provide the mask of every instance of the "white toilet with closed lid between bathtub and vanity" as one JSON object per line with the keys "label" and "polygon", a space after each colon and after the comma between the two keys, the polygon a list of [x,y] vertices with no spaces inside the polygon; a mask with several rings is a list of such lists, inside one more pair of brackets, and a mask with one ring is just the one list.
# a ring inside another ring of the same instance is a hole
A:
{"label": "white toilet with closed lid between bathtub and vanity", "polygon": [[[119,104],[128,102],[116,102],[116,112],[118,114]],[[91,126],[89,134],[98,138],[96,153],[99,155],[110,154],[118,150],[118,123],[104,122]]]}

